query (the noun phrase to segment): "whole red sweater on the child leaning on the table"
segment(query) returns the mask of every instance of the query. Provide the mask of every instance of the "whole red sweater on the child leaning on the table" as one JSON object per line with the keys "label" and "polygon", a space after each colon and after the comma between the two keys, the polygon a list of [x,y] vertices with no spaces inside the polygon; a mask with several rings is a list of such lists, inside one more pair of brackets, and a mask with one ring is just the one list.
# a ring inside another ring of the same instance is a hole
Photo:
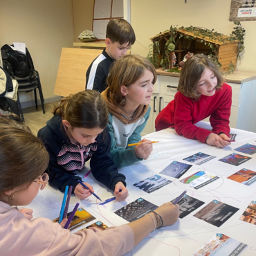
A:
{"label": "whole red sweater on the child leaning on the table", "polygon": [[[231,109],[232,89],[228,84],[223,84],[219,91],[212,96],[201,95],[199,101],[176,93],[167,107],[156,118],[156,131],[174,127],[177,134],[186,138],[200,140],[205,143],[207,136],[213,132],[221,132],[229,136],[229,118]],[[210,116],[212,131],[196,127],[194,124]]]}

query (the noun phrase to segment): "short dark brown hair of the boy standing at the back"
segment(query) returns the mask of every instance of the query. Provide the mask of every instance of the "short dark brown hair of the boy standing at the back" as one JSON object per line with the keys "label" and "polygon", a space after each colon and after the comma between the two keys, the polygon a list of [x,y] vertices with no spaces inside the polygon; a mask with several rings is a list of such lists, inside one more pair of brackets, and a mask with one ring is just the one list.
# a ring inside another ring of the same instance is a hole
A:
{"label": "short dark brown hair of the boy standing at the back", "polygon": [[127,42],[132,45],[136,40],[134,29],[125,19],[111,19],[107,24],[106,38],[121,45]]}

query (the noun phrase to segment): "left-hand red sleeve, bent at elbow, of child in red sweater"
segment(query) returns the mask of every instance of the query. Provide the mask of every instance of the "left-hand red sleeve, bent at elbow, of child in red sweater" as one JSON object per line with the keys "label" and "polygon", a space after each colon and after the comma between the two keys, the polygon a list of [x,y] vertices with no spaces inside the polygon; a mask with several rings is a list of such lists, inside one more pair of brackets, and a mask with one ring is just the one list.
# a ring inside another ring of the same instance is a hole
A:
{"label": "left-hand red sleeve, bent at elbow, of child in red sweater", "polygon": [[179,93],[175,98],[174,125],[176,133],[186,138],[200,140],[205,143],[205,139],[211,131],[196,127],[192,124],[193,103],[188,97]]}

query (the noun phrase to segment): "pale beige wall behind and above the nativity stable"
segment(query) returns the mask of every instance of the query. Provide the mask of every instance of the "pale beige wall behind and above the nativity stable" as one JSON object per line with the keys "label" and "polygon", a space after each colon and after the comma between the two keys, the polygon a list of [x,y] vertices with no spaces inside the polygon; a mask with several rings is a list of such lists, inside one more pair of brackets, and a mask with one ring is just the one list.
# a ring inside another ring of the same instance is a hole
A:
{"label": "pale beige wall behind and above the nativity stable", "polygon": [[[136,33],[132,53],[146,56],[149,37],[167,30],[171,25],[201,26],[230,35],[234,24],[229,21],[231,0],[131,0],[131,26]],[[242,21],[246,29],[245,50],[239,70],[256,71],[256,21]]]}

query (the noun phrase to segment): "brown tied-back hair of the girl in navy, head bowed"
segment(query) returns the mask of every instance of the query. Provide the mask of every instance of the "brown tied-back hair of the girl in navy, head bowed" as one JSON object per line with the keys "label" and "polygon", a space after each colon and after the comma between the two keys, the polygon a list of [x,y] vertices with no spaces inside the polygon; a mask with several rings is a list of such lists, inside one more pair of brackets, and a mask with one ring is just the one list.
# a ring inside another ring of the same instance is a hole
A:
{"label": "brown tied-back hair of the girl in navy, head bowed", "polygon": [[83,127],[105,129],[109,118],[107,103],[98,91],[85,90],[60,100],[53,108],[53,114],[59,114],[72,128]]}

